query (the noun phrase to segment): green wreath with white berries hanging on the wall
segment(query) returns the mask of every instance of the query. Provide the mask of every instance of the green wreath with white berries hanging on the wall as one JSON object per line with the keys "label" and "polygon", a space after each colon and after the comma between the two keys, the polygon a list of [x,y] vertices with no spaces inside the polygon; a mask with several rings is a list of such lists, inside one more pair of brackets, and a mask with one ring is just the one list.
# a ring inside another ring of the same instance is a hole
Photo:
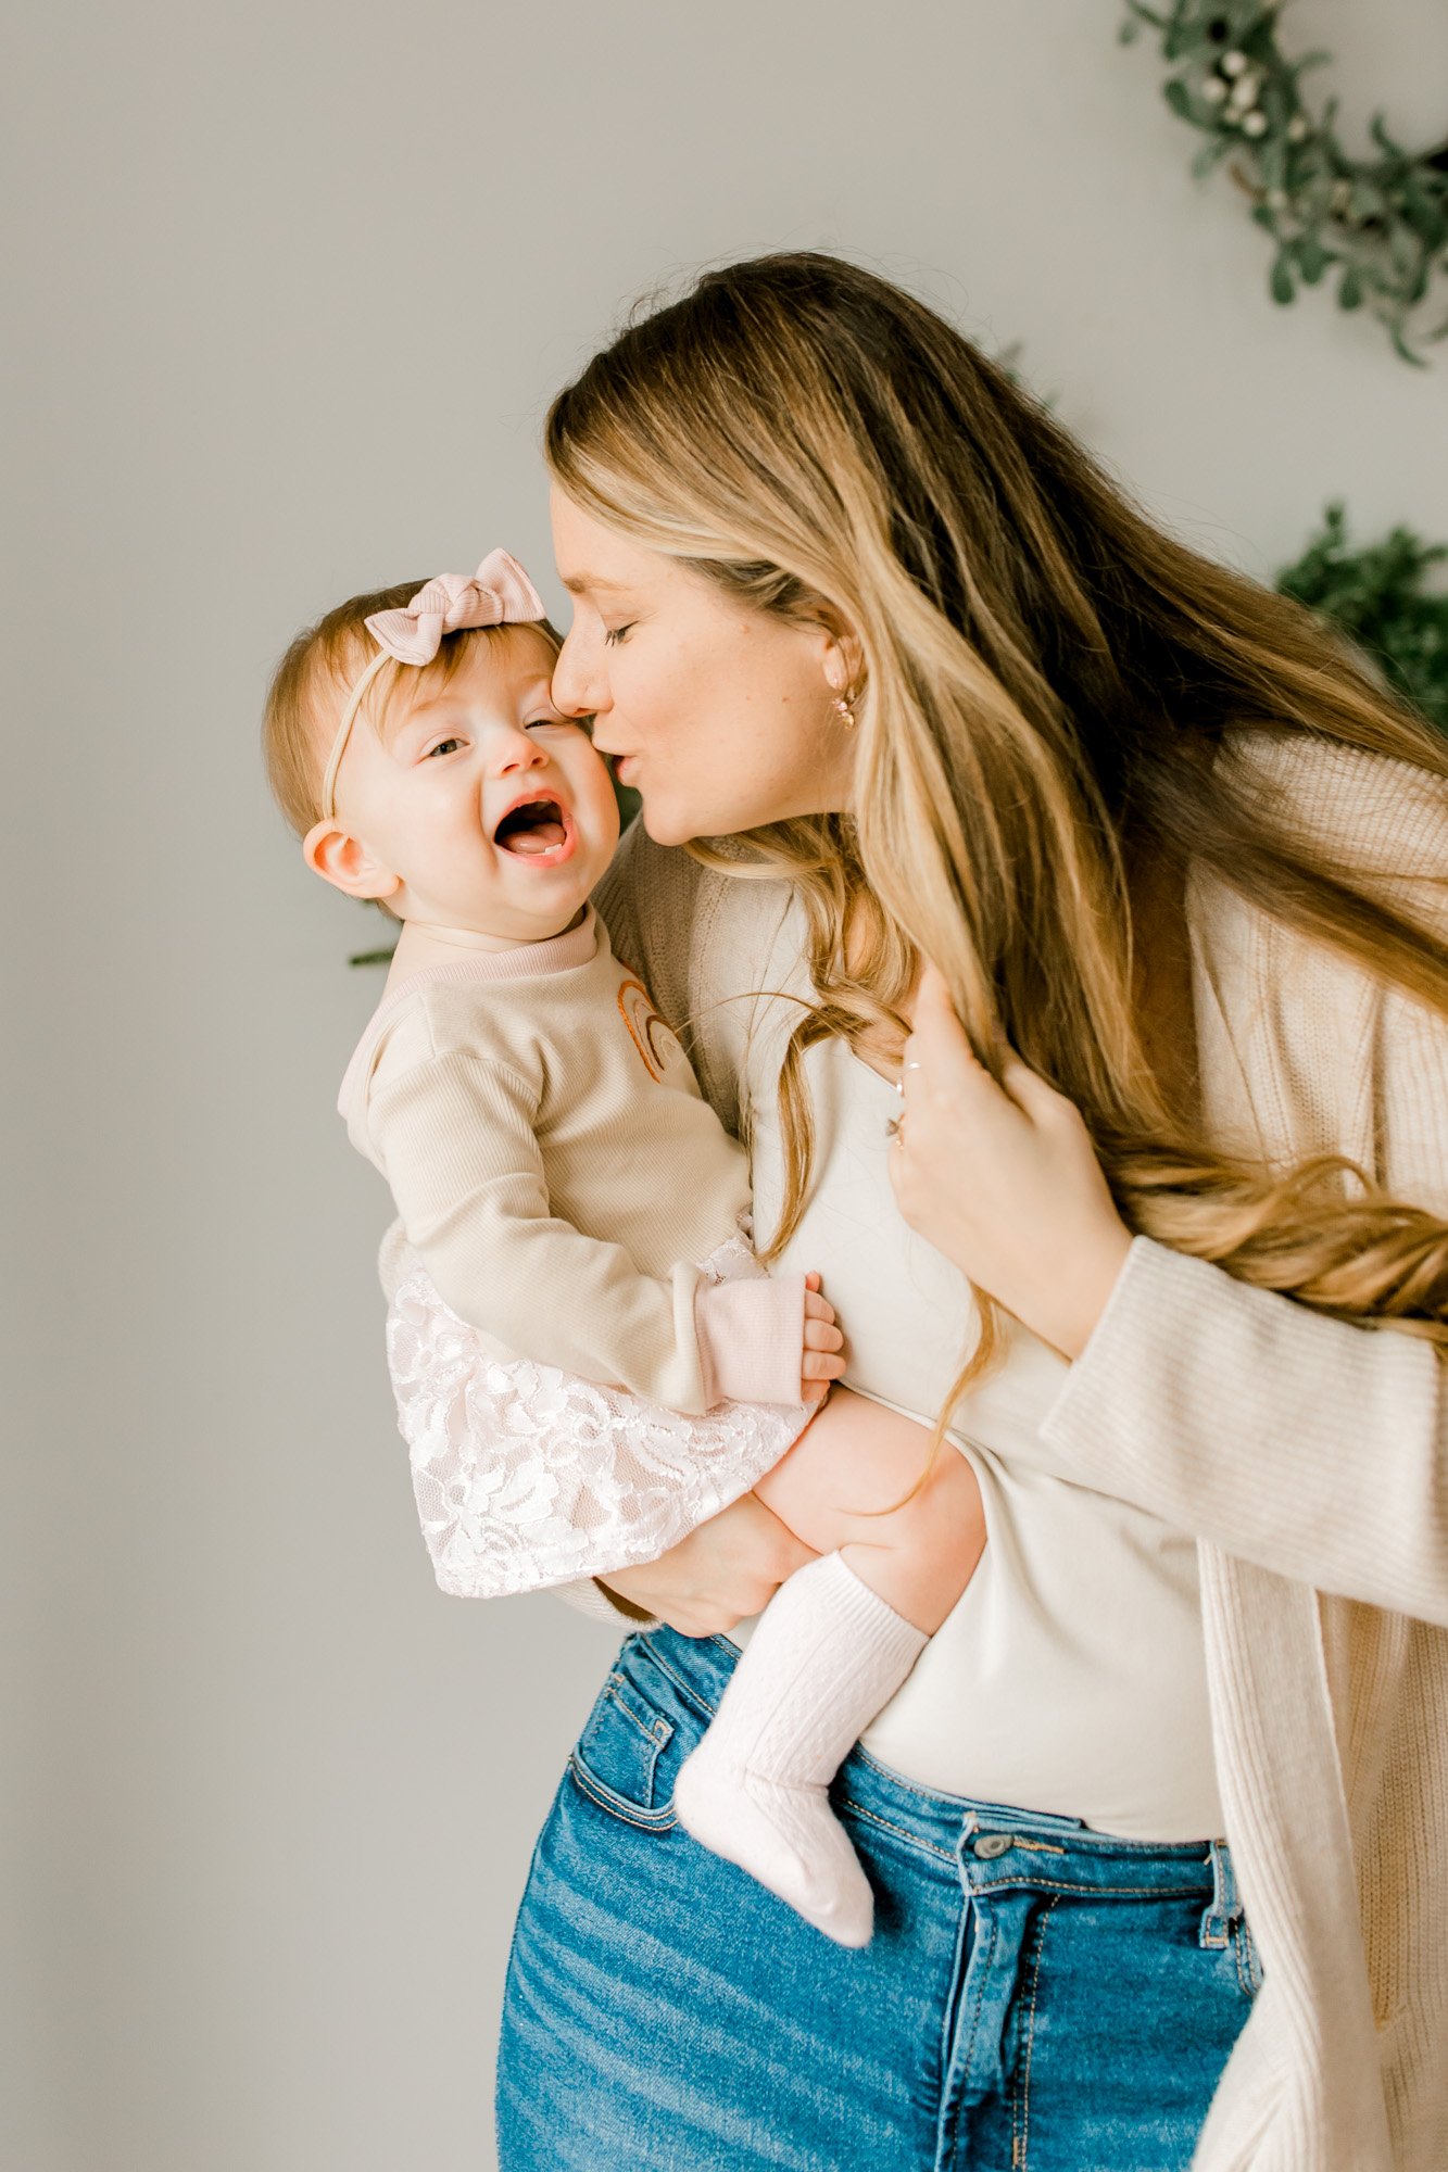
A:
{"label": "green wreath with white berries hanging on the wall", "polygon": [[1422,321],[1431,291],[1448,276],[1448,143],[1405,150],[1374,115],[1376,154],[1352,159],[1337,137],[1337,100],[1313,113],[1302,98],[1302,76],[1331,54],[1289,61],[1276,41],[1278,7],[1126,7],[1122,43],[1144,24],[1159,33],[1172,67],[1163,98],[1207,137],[1194,174],[1228,159],[1252,217],[1276,243],[1272,300],[1291,302],[1298,287],[1315,287],[1331,272],[1339,308],[1368,308],[1402,361],[1420,365],[1413,341],[1448,334],[1448,317],[1431,328]]}

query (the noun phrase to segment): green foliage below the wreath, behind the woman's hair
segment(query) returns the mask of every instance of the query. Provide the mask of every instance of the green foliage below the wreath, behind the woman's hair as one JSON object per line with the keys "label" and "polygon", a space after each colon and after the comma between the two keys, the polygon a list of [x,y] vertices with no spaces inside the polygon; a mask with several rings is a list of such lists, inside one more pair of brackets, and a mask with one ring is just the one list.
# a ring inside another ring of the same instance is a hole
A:
{"label": "green foliage below the wreath, behind the woman's hair", "polygon": [[1335,504],[1298,563],[1276,578],[1283,595],[1339,626],[1439,732],[1448,732],[1448,595],[1431,591],[1426,576],[1444,563],[1448,543],[1424,543],[1411,528],[1350,550],[1348,519]]}

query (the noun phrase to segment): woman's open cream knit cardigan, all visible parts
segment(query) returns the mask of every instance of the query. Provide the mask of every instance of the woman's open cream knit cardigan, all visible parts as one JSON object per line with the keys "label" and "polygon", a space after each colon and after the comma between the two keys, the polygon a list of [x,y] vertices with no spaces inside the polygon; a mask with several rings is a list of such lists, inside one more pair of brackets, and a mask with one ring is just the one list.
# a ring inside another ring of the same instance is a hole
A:
{"label": "woman's open cream knit cardigan, all visible parts", "polygon": [[[1448,793],[1241,734],[1263,797],[1448,934]],[[752,886],[750,886],[752,888]],[[731,877],[626,841],[600,908],[683,1025],[748,986]],[[1276,1164],[1339,1149],[1448,1216],[1448,1021],[1200,873],[1204,1121]],[[709,1097],[731,1121],[735,1079]],[[1041,1429],[1065,1479],[1200,1544],[1218,1775],[1263,1987],[1196,2172],[1448,2172],[1448,1368],[1137,1238]]]}

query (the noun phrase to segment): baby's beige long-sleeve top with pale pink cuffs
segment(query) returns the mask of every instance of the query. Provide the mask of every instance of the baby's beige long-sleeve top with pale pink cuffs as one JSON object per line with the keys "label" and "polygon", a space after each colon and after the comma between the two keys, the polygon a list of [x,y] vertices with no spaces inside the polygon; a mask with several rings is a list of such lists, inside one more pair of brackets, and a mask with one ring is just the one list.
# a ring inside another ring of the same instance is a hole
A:
{"label": "baby's beige long-sleeve top with pale pink cuffs", "polygon": [[739,1245],[746,1158],[596,912],[394,988],[337,1106],[494,1355],[694,1414],[798,1403],[804,1277],[700,1273]]}

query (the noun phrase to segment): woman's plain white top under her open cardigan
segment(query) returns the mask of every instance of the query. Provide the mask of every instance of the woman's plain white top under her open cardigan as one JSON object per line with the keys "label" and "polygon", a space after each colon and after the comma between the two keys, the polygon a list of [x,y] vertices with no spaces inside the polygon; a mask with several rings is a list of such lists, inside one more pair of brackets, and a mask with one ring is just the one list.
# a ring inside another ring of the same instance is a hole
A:
{"label": "woman's plain white top under her open cardigan", "polygon": [[[807,993],[802,936],[791,906],[750,984]],[[783,1201],[778,1066],[798,1014],[787,997],[761,1003],[746,1056],[761,1240]],[[804,1073],[820,1182],[781,1268],[824,1273],[848,1336],[848,1386],[933,1423],[976,1336],[970,1286],[896,1208],[889,1079],[841,1040],[809,1049]],[[865,1748],[946,1794],[1085,1818],[1128,1840],[1211,1840],[1222,1803],[1196,1544],[1041,1468],[1039,1429],[1070,1366],[1004,1325],[1009,1355],[954,1423],[989,1544]]]}

